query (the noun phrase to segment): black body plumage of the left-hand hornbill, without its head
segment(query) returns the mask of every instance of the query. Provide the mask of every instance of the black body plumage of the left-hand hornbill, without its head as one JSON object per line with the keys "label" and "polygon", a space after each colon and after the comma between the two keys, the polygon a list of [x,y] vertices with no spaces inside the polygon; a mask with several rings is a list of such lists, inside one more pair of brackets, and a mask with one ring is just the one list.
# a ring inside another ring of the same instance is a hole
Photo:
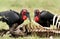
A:
{"label": "black body plumage of the left-hand hornbill, without its head", "polygon": [[0,20],[6,22],[9,27],[12,27],[14,23],[21,24],[24,21],[22,20],[21,14],[13,10],[0,12],[0,16],[2,17]]}

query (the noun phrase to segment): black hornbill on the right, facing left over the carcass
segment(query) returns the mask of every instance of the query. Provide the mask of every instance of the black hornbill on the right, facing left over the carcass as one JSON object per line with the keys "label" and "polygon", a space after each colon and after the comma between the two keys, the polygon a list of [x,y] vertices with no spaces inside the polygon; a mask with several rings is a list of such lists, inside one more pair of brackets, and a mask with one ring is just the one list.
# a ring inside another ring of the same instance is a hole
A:
{"label": "black hornbill on the right, facing left over the carcass", "polygon": [[34,20],[43,27],[50,27],[50,25],[53,24],[56,25],[59,21],[57,15],[54,15],[46,10],[40,12],[39,9],[34,11]]}

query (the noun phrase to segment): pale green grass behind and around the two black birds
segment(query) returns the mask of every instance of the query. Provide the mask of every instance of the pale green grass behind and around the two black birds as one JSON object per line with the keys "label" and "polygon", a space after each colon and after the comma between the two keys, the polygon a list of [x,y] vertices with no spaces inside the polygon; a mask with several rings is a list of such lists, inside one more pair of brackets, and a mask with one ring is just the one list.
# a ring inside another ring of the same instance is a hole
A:
{"label": "pale green grass behind and around the two black birds", "polygon": [[[60,14],[60,0],[0,0],[0,12],[9,9],[20,12],[22,8],[27,8],[29,10],[31,18],[33,18],[34,16],[33,13],[34,9],[37,8],[40,10],[48,10],[54,14]],[[29,21],[27,21],[27,23],[28,22]],[[8,25],[6,23],[0,22],[0,29],[3,28],[8,29]],[[28,37],[19,37],[19,38],[20,39],[49,39],[49,38],[40,38],[37,36],[28,36]],[[14,39],[14,38],[10,38],[9,35],[5,35],[4,37],[0,37],[0,39]]]}

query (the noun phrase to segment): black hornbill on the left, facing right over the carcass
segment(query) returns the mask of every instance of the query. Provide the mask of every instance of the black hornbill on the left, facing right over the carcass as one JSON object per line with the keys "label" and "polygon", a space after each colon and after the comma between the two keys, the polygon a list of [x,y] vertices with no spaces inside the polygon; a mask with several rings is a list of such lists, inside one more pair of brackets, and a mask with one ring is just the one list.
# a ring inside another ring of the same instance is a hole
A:
{"label": "black hornbill on the left, facing right over the carcass", "polygon": [[22,9],[20,14],[13,10],[3,11],[0,12],[0,16],[0,21],[6,22],[8,24],[11,33],[13,33],[15,28],[22,24],[24,20],[27,18],[30,20],[29,12],[26,9]]}

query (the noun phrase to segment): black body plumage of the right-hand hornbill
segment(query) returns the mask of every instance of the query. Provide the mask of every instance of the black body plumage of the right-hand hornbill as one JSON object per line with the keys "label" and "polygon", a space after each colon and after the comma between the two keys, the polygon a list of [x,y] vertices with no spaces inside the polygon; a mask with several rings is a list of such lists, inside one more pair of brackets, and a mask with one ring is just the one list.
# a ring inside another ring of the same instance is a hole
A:
{"label": "black body plumage of the right-hand hornbill", "polygon": [[[36,14],[37,13],[35,13],[35,17],[37,16]],[[53,24],[53,17],[54,14],[52,14],[51,12],[41,11],[38,15],[39,21],[37,23],[39,23],[43,27],[50,27],[50,24]]]}

